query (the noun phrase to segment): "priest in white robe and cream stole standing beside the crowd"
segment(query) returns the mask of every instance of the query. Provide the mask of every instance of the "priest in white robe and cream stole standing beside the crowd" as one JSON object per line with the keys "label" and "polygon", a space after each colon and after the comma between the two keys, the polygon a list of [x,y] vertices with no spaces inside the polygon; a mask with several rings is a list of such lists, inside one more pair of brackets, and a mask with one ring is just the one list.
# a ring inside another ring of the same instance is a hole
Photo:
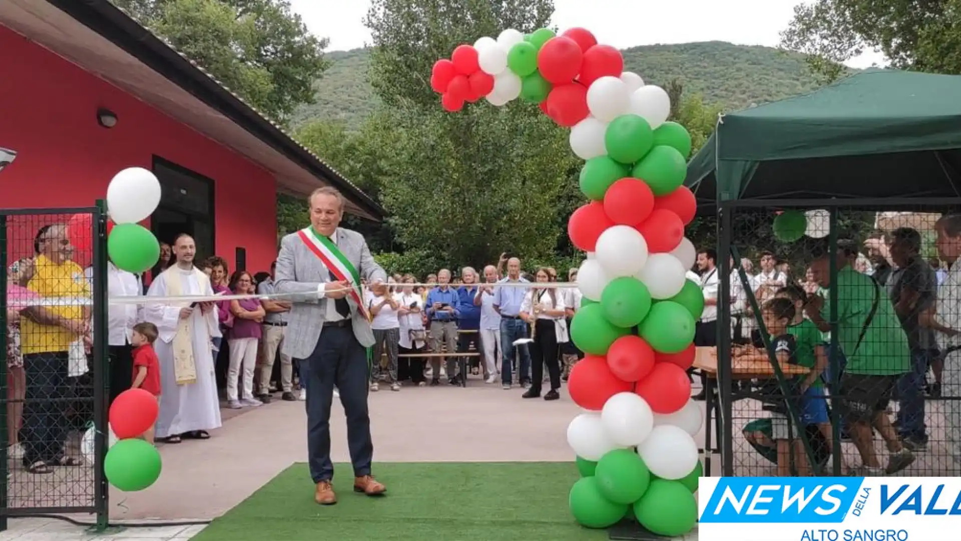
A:
{"label": "priest in white robe and cream stole standing beside the crowd", "polygon": [[[188,235],[173,246],[177,263],[150,285],[147,296],[211,296],[209,277],[193,266],[196,247]],[[143,319],[160,330],[154,349],[160,359],[160,415],[157,437],[206,440],[219,428],[220,402],[213,375],[211,338],[220,336],[213,302],[147,302]]]}

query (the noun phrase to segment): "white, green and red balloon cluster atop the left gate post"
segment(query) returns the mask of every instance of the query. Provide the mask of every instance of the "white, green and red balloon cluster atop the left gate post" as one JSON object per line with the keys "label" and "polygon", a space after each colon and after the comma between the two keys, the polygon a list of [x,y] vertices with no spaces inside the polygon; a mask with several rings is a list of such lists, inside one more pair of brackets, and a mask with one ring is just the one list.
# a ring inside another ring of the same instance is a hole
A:
{"label": "white, green and red balloon cluster atop the left gate post", "polygon": [[[107,188],[107,253],[113,265],[134,273],[149,270],[160,259],[160,243],[138,221],[150,218],[160,204],[160,181],[142,167],[118,172]],[[93,246],[89,214],[74,215],[67,221],[73,245],[81,251]]]}

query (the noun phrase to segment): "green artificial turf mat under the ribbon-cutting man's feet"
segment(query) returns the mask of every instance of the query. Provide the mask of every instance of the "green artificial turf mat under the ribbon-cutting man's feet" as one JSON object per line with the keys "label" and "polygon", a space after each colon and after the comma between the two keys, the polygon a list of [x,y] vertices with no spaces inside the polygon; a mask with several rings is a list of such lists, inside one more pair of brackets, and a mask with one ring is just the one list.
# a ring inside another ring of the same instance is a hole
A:
{"label": "green artificial turf mat under the ribbon-cutting man's feet", "polygon": [[378,463],[387,495],[353,491],[338,464],[337,504],[313,502],[307,464],[294,464],[193,539],[195,541],[566,541],[607,539],[580,528],[567,495],[570,462]]}

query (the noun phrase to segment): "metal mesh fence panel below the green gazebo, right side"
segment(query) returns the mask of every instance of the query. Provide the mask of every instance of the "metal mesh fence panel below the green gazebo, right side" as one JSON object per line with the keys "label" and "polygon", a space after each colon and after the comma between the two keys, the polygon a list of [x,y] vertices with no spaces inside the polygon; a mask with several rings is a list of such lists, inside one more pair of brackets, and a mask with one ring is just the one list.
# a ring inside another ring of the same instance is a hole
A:
{"label": "metal mesh fence panel below the green gazebo, right side", "polygon": [[[778,240],[778,214],[815,209],[805,235]],[[961,366],[934,330],[961,316],[957,298],[938,301],[948,265],[935,228],[959,209],[961,198],[719,205],[708,405],[722,475],[961,475]]]}

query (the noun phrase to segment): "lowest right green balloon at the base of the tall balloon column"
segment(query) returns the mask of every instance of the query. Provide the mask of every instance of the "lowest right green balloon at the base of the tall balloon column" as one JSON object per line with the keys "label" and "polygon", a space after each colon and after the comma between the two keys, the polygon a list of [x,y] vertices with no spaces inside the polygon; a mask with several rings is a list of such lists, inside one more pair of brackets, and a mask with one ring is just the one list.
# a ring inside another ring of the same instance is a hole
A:
{"label": "lowest right green balloon at the base of the tall balloon column", "polygon": [[665,537],[678,537],[698,522],[698,502],[678,481],[653,479],[648,491],[634,503],[634,515],[641,526]]}

